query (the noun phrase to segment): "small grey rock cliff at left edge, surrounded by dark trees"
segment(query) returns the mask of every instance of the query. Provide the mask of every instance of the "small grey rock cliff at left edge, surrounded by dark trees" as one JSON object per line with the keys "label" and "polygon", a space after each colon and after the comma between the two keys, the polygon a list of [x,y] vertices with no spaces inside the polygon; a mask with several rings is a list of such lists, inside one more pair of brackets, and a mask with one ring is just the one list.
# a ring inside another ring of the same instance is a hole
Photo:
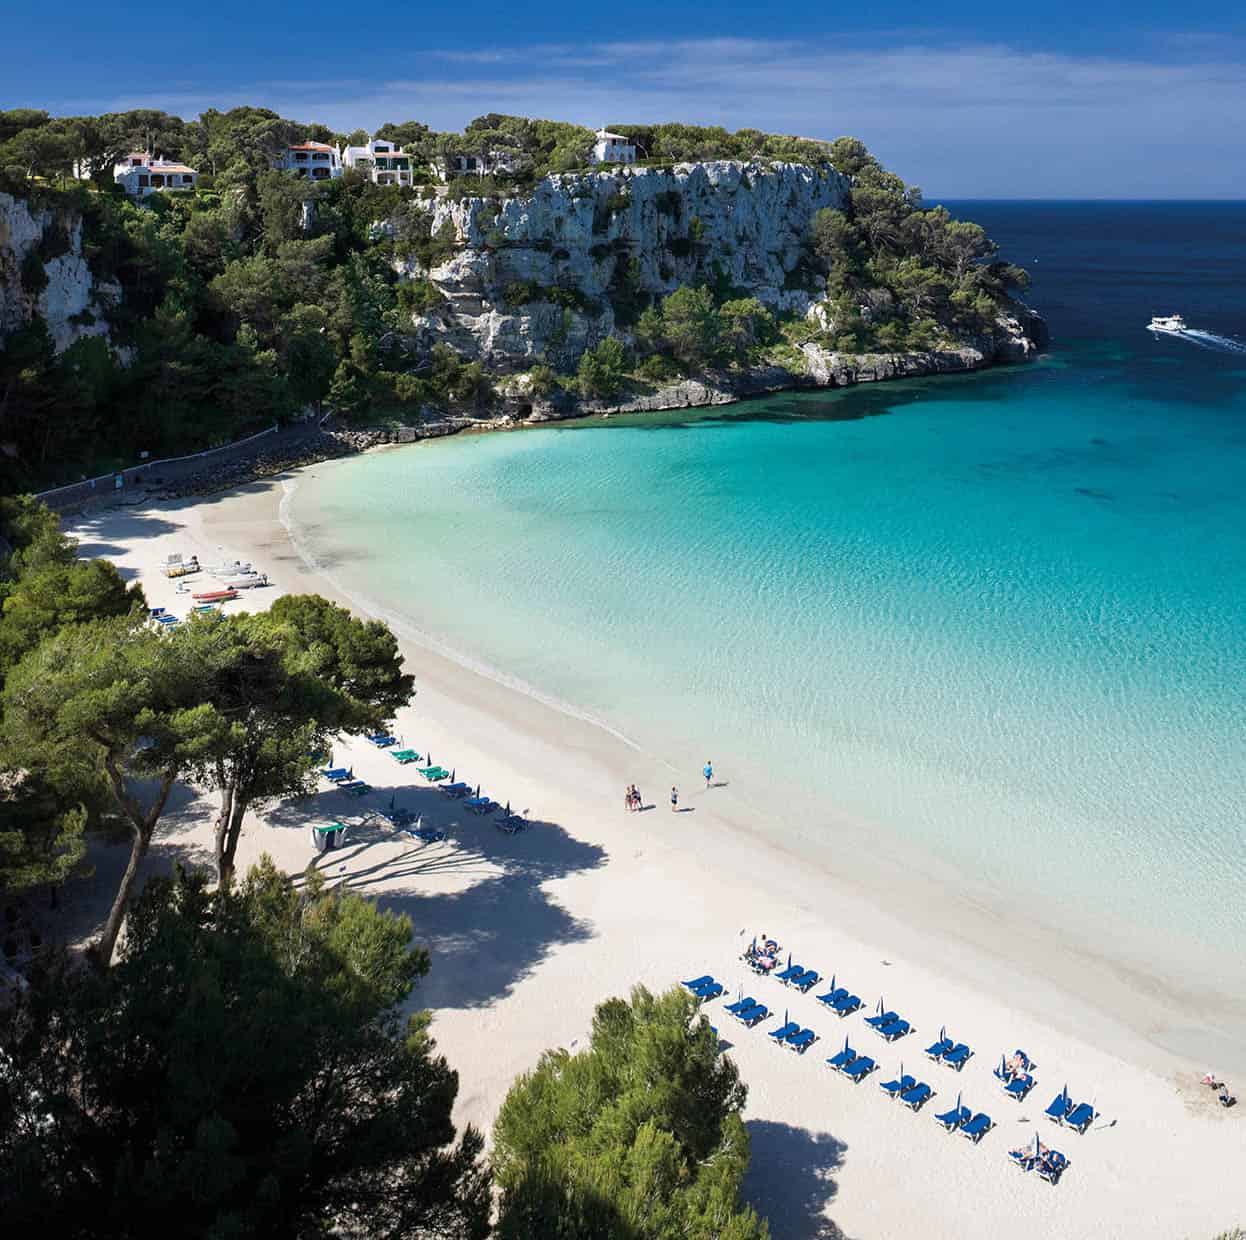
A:
{"label": "small grey rock cliff at left edge, surrounded by dark trees", "polygon": [[105,315],[120,297],[121,285],[96,280],[82,257],[81,216],[31,211],[0,193],[0,338],[39,315],[61,353],[82,336],[106,336]]}

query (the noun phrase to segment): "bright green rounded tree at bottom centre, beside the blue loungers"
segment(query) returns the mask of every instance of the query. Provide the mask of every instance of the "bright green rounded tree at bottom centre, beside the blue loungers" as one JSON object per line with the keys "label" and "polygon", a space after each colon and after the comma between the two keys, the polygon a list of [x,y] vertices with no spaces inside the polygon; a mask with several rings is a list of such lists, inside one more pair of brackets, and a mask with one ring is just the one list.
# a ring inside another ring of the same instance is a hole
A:
{"label": "bright green rounded tree at bottom centre, beside the blue loungers", "polygon": [[745,1094],[690,996],[609,999],[586,1049],[547,1052],[502,1104],[497,1234],[764,1240],[740,1200]]}

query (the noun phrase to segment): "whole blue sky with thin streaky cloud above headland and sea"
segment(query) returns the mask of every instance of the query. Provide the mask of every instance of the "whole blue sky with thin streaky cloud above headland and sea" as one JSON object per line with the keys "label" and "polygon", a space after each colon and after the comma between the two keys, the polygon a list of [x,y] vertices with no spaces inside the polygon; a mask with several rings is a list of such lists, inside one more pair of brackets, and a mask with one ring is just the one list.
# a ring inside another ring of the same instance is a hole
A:
{"label": "whole blue sky with thin streaky cloud above headland and sea", "polygon": [[[9,0],[0,108],[258,105],[852,135],[944,198],[1246,198],[1246,6],[1207,0]],[[20,55],[14,49],[21,49]]]}

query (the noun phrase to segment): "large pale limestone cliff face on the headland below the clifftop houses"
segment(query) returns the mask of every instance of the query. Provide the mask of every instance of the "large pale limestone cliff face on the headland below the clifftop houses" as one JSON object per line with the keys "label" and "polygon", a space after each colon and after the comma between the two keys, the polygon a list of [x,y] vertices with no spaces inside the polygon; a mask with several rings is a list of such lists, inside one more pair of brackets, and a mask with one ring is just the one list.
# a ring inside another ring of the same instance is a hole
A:
{"label": "large pale limestone cliff face on the headland below the clifftop houses", "polygon": [[[573,369],[618,328],[614,305],[629,293],[660,297],[718,279],[775,310],[804,312],[810,221],[841,207],[847,191],[830,169],[721,161],[552,176],[523,198],[429,199],[434,234],[452,229],[464,248],[429,272],[401,264],[446,299],[415,329],[425,344],[444,340],[493,370]],[[530,297],[573,293],[578,304],[510,304],[505,292],[516,284]]]}

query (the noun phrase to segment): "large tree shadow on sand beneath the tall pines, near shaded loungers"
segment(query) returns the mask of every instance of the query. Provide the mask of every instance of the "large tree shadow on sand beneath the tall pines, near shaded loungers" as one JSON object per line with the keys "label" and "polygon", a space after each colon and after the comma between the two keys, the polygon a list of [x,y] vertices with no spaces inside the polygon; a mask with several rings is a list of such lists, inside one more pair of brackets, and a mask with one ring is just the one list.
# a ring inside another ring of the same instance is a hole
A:
{"label": "large tree shadow on sand beneath the tall pines, near shaded loungers", "polygon": [[[395,829],[379,810],[390,796],[425,824],[442,826],[447,839],[426,844]],[[343,821],[345,844],[314,855],[330,881],[375,896],[386,909],[411,917],[415,941],[432,953],[434,968],[421,982],[421,1007],[483,1007],[510,993],[553,947],[584,942],[592,923],[573,917],[551,899],[546,882],[603,865],[606,850],[577,840],[557,823],[530,819],[517,835],[475,816],[435,788],[376,788],[365,804],[346,803],[335,790],[279,805],[265,816],[275,830]],[[395,845],[399,851],[395,854]],[[395,891],[421,877],[465,880],[454,891]]]}

